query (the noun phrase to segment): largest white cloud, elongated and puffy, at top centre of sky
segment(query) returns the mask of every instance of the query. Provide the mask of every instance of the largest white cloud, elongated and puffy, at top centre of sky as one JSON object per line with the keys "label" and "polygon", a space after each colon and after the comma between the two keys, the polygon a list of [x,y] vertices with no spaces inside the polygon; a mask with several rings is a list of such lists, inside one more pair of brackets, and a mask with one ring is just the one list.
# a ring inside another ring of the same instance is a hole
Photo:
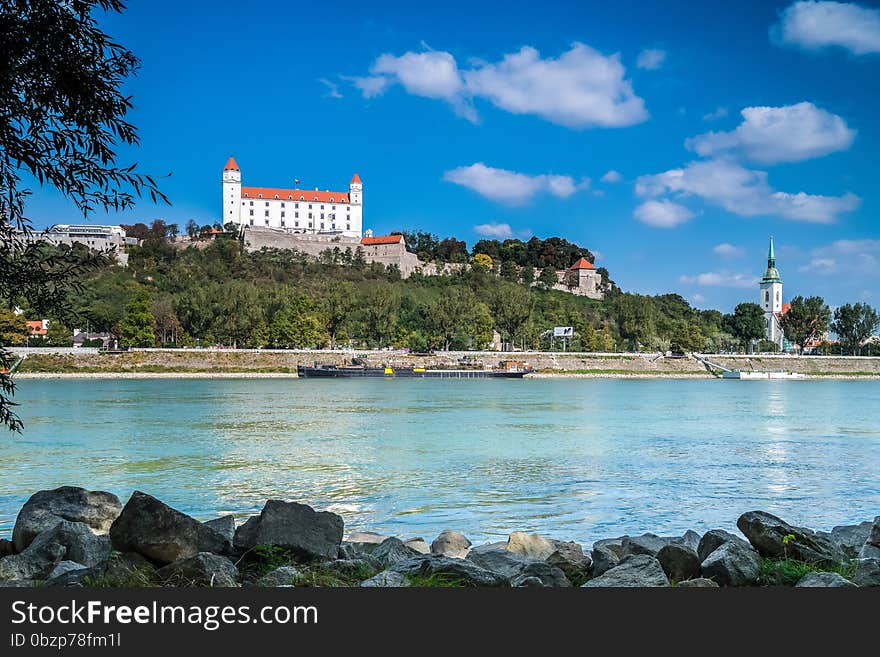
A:
{"label": "largest white cloud, elongated and puffy, at top centre of sky", "polygon": [[542,59],[530,46],[496,63],[474,61],[459,69],[452,54],[429,50],[380,56],[371,75],[349,78],[372,98],[397,82],[413,95],[449,103],[475,121],[474,98],[513,114],[533,114],[569,128],[622,127],[648,118],[644,101],[625,78],[620,55],[605,56],[574,43],[558,58]]}

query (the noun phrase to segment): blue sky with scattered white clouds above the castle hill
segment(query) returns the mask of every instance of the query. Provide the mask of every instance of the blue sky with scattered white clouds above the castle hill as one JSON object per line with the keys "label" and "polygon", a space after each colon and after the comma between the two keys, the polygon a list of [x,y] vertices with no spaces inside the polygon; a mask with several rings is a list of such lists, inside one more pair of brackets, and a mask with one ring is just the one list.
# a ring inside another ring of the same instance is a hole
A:
{"label": "blue sky with scattered white clouds above the castle hill", "polygon": [[173,206],[93,220],[213,222],[232,154],[250,185],[357,171],[377,233],[559,235],[725,311],[773,234],[787,298],[878,306],[878,7],[135,0],[105,22],[143,62],[121,161]]}

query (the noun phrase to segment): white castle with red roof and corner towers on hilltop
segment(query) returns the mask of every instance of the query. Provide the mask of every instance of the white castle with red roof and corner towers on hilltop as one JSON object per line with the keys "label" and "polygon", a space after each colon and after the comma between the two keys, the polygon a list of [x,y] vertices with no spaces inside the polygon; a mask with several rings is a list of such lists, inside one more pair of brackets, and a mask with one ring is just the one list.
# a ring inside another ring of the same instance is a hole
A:
{"label": "white castle with red roof and corner towers on hilltop", "polygon": [[357,174],[347,192],[244,187],[241,169],[230,157],[223,167],[222,201],[224,224],[358,239],[363,234],[364,187]]}

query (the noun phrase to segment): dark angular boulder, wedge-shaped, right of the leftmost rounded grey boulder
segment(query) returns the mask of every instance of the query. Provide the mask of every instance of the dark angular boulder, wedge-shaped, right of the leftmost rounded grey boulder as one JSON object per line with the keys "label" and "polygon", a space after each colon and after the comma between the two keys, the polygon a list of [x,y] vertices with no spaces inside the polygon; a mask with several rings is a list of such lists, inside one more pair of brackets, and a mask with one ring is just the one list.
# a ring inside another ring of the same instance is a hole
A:
{"label": "dark angular boulder, wedge-shaped, right of the leftmost rounded grey boulder", "polygon": [[131,494],[113,522],[110,539],[120,552],[138,552],[160,565],[200,552],[221,553],[226,547],[210,527],[140,491]]}

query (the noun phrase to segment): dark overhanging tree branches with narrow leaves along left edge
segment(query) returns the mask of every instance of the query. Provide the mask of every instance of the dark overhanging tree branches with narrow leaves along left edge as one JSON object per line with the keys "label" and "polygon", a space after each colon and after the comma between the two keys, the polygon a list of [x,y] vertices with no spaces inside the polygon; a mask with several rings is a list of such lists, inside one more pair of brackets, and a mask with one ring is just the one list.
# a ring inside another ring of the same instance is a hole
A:
{"label": "dark overhanging tree branches with narrow leaves along left edge", "polygon": [[[117,146],[138,142],[125,118],[132,100],[123,85],[139,62],[99,29],[98,18],[123,7],[121,0],[0,0],[0,290],[54,315],[68,310],[65,287],[100,262],[62,255],[41,266],[40,246],[13,237],[32,226],[22,172],[86,217],[128,209],[144,194],[167,201],[151,176],[116,164]],[[0,349],[0,370],[9,360]],[[14,392],[11,377],[0,373],[0,423],[20,430]]]}

